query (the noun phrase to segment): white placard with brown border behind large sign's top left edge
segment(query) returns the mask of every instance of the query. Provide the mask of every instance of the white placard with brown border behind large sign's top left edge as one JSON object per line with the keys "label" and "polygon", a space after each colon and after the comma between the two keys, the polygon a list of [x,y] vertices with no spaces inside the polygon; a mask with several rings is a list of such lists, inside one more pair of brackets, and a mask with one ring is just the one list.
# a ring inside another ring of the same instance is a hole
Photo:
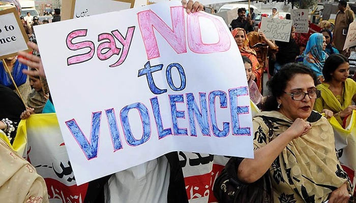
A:
{"label": "white placard with brown border behind large sign's top left edge", "polygon": [[[136,2],[142,3],[139,0]],[[62,20],[130,9],[134,8],[134,4],[135,0],[64,0]]]}

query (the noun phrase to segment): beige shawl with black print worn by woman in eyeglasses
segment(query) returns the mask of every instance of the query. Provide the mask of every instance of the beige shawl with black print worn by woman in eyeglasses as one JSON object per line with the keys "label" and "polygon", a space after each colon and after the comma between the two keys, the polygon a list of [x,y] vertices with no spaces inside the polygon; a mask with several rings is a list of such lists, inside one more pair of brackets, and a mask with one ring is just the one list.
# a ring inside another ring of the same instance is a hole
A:
{"label": "beige shawl with black print worn by woman in eyeglasses", "polygon": [[[321,203],[345,182],[352,187],[336,156],[332,126],[316,112],[308,121],[311,130],[290,141],[270,167],[275,203]],[[292,123],[277,111],[258,114],[253,119],[254,149],[268,145]]]}

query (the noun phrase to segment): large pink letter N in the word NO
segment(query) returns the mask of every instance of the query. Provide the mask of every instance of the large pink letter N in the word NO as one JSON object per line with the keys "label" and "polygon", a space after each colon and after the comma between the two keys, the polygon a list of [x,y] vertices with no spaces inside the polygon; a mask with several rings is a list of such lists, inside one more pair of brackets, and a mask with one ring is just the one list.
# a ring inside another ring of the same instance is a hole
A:
{"label": "large pink letter N in the word NO", "polygon": [[[138,24],[146,49],[147,59],[160,57],[157,40],[153,28],[161,34],[177,54],[186,53],[185,20],[183,7],[171,7],[171,29],[160,17],[151,10],[137,13]],[[229,38],[227,38],[229,39]]]}

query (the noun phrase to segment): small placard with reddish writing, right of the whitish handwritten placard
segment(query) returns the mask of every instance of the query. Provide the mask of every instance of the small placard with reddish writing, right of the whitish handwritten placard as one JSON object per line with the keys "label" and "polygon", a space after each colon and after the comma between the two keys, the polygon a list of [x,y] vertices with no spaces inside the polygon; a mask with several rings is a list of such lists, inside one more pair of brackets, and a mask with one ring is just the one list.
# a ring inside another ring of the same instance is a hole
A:
{"label": "small placard with reddish writing, right of the whitish handwritten placard", "polygon": [[295,32],[308,33],[309,22],[308,22],[308,9],[293,9],[290,12],[293,26],[295,27]]}

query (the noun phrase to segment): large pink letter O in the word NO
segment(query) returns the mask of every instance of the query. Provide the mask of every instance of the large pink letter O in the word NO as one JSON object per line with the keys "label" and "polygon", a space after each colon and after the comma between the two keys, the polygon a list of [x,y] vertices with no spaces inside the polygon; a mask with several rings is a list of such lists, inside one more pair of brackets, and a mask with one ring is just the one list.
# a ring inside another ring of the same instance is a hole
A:
{"label": "large pink letter O in the word NO", "polygon": [[[199,17],[210,19],[216,28],[219,35],[219,41],[215,44],[204,44],[201,40],[201,32],[199,26]],[[225,25],[226,26],[226,25]],[[230,49],[230,33],[226,31],[225,26],[219,19],[212,15],[207,15],[204,12],[195,12],[187,17],[188,27],[188,46],[195,53],[207,54],[214,52],[224,52]]]}

